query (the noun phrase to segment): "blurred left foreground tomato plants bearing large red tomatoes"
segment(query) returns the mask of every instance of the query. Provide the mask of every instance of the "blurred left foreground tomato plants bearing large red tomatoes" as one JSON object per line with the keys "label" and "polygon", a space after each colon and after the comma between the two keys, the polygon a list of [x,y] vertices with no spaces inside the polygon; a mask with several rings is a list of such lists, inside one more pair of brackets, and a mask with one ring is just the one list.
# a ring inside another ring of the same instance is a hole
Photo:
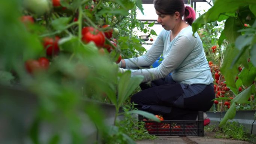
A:
{"label": "blurred left foreground tomato plants bearing large red tomatoes", "polygon": [[[49,126],[55,123],[45,141],[63,141],[63,133],[57,132],[61,128],[70,140],[88,143],[85,138],[88,135],[79,132],[83,125],[80,120],[86,116],[88,120],[95,120],[107,143],[127,143],[129,133],[117,127],[118,121],[114,122],[117,132],[113,136],[105,126],[103,109],[84,99],[111,103],[118,111],[141,82],[142,77],[131,78],[129,72],[119,74],[115,64],[120,55],[130,57],[145,51],[138,37],[131,35],[135,27],[144,25],[135,19],[136,10],[142,10],[141,3],[133,0],[10,0],[0,1],[0,8],[0,19],[3,19],[0,25],[4,25],[0,27],[1,71],[9,74],[10,85],[18,84],[38,100],[34,103],[38,111],[36,117],[31,117],[31,123],[21,125],[19,122],[12,127],[15,132],[22,127],[30,133],[22,132],[25,135],[10,139],[14,142],[26,137],[31,143],[44,143],[37,139],[42,137],[37,130],[42,131],[43,123]],[[24,27],[25,21],[32,24]],[[112,37],[110,33],[105,36],[104,32],[112,32]],[[109,49],[104,45],[109,45]],[[0,79],[2,82],[1,74]],[[24,96],[24,100],[28,98],[29,95]],[[9,107],[12,104],[15,105],[14,101],[10,101]],[[13,117],[23,109],[19,104],[12,108]],[[98,114],[92,114],[91,110]],[[153,114],[148,116],[156,120]]]}

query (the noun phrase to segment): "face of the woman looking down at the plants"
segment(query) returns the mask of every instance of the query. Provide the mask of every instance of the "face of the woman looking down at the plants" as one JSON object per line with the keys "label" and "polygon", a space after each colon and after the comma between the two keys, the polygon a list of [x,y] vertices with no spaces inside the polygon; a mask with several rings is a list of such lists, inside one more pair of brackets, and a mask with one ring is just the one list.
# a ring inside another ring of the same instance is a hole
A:
{"label": "face of the woman looking down at the plants", "polygon": [[158,11],[156,11],[156,14],[158,15],[157,22],[160,23],[165,30],[173,30],[177,23],[175,15],[166,15]]}

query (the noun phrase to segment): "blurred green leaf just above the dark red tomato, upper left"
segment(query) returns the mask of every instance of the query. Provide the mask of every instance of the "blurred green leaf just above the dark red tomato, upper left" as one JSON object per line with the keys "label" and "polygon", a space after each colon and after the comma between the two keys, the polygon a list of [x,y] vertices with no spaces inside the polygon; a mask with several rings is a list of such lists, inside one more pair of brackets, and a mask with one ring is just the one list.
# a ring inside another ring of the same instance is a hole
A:
{"label": "blurred green leaf just above the dark red tomato, upper left", "polygon": [[55,30],[63,31],[66,29],[67,24],[71,21],[71,17],[61,17],[52,21],[52,27]]}

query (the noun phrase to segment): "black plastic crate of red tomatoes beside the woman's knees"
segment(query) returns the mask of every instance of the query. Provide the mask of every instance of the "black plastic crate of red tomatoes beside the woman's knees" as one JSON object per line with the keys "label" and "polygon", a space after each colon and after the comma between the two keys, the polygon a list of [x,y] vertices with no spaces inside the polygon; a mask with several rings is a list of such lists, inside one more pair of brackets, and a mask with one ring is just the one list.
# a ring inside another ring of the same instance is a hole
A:
{"label": "black plastic crate of red tomatoes beside the woman's knees", "polygon": [[163,120],[160,123],[152,120],[139,120],[145,122],[145,129],[150,135],[195,135],[204,137],[203,111],[198,111],[198,120]]}

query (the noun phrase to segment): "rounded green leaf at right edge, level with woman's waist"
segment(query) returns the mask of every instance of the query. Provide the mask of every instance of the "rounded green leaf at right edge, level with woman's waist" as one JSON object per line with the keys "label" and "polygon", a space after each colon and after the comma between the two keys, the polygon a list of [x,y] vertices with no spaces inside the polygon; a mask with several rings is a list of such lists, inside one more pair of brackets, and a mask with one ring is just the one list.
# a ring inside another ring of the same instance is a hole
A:
{"label": "rounded green leaf at right edge, level with woman's waist", "polygon": [[242,80],[243,85],[250,86],[254,82],[256,77],[256,67],[249,62],[249,68],[243,68],[241,73],[239,74],[239,78]]}

